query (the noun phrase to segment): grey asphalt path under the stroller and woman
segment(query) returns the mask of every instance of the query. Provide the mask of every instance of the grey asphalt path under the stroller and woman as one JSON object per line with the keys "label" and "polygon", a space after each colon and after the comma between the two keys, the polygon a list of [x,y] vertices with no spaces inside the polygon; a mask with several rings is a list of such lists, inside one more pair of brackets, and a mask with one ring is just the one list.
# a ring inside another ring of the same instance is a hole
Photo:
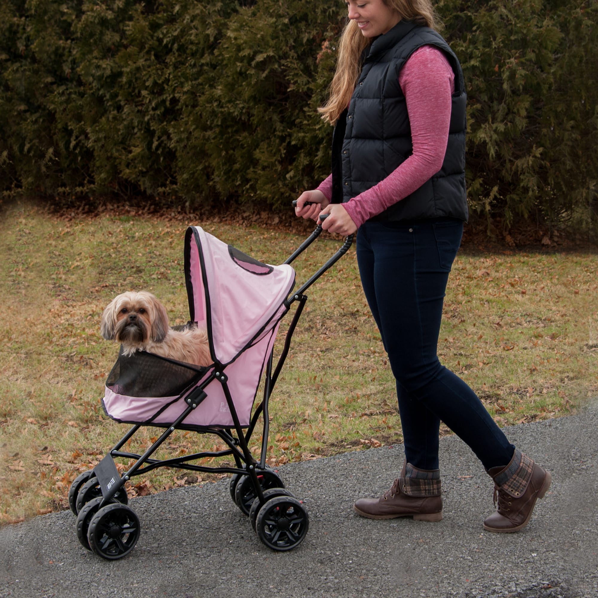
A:
{"label": "grey asphalt path under the stroller and woman", "polygon": [[598,402],[507,434],[553,474],[519,533],[484,531],[492,482],[446,437],[440,523],[358,517],[353,501],[390,487],[402,447],[346,453],[279,469],[310,514],[306,539],[289,553],[261,544],[224,479],[133,499],[141,538],[115,562],[81,547],[71,512],[2,527],[0,598],[598,597]]}

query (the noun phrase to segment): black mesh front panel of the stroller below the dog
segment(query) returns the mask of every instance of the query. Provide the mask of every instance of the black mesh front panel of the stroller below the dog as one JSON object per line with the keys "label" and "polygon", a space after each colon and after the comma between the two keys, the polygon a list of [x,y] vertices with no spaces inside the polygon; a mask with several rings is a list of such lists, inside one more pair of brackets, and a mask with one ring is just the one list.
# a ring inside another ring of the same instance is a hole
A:
{"label": "black mesh front panel of the stroller below the dog", "polygon": [[106,386],[117,395],[177,396],[206,371],[208,368],[187,367],[152,353],[136,351],[130,357],[118,355]]}

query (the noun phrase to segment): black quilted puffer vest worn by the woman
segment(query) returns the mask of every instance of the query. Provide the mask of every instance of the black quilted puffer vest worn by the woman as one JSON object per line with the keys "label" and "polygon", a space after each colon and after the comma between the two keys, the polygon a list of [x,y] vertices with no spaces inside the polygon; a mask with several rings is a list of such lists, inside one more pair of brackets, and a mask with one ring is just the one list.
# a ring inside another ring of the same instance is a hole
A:
{"label": "black quilted puffer vest worn by the woman", "polygon": [[332,203],[348,202],[386,178],[412,153],[411,127],[399,72],[422,45],[444,52],[455,74],[449,142],[442,168],[419,189],[372,220],[451,216],[468,219],[465,191],[466,93],[459,60],[428,27],[399,22],[374,39],[364,59],[349,109],[332,136]]}

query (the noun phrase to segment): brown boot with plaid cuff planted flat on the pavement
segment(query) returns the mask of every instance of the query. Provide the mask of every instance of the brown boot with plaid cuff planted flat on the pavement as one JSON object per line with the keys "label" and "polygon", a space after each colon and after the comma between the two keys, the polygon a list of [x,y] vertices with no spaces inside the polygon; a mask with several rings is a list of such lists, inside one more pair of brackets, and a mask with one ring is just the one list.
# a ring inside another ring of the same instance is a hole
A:
{"label": "brown boot with plaid cuff planted flat on the pavement", "polygon": [[406,463],[388,492],[380,498],[360,498],[353,509],[370,519],[413,517],[417,521],[440,521],[443,499],[439,470],[417,469]]}

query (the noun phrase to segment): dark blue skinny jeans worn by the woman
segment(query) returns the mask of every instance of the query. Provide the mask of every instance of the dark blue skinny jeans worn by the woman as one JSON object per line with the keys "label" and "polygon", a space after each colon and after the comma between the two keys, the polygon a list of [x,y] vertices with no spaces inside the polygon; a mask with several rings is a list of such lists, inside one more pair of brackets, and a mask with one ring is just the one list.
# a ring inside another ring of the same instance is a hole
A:
{"label": "dark blue skinny jeans worn by the woman", "polygon": [[444,422],[486,469],[507,466],[509,443],[480,399],[437,356],[449,272],[463,222],[454,218],[365,222],[357,261],[365,297],[382,335],[396,393],[407,462],[438,468],[438,430]]}

